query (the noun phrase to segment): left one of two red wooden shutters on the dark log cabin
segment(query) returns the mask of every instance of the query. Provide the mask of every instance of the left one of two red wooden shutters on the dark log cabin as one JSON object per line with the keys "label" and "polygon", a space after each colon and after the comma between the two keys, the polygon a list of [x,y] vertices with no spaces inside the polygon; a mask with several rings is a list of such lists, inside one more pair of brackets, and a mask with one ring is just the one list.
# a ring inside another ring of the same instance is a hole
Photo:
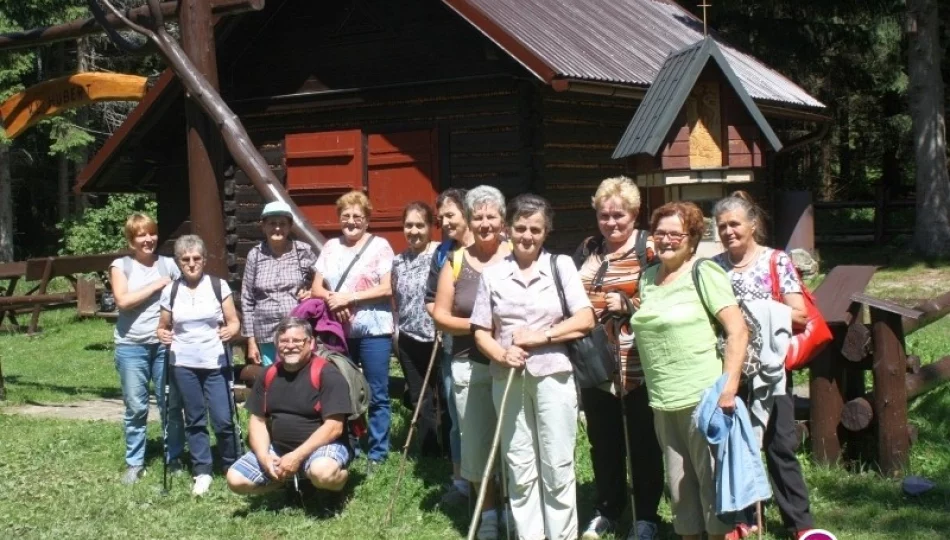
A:
{"label": "left one of two red wooden shutters on the dark log cabin", "polygon": [[360,130],[287,135],[287,192],[314,227],[328,238],[340,235],[336,200],[363,188]]}

